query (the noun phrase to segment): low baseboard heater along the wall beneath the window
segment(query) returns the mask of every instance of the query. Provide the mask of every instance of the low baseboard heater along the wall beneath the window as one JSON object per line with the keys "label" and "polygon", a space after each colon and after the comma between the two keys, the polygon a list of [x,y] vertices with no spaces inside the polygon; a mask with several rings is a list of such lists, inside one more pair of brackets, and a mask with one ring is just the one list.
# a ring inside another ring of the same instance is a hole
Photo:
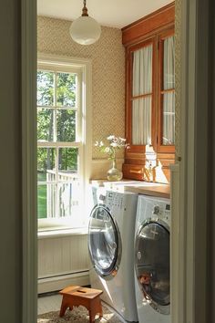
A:
{"label": "low baseboard heater along the wall beneath the window", "polygon": [[89,285],[88,270],[56,276],[39,277],[37,291],[38,294],[50,293],[63,289],[69,285]]}

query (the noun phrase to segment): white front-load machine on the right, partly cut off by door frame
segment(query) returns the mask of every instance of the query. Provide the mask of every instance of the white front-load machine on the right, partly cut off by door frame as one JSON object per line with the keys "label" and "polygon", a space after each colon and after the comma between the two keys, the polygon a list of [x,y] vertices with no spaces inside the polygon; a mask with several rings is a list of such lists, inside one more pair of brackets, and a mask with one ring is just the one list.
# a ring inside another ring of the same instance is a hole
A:
{"label": "white front-load machine on the right, partly cut off by door frame", "polygon": [[135,226],[139,323],[170,323],[169,228],[169,199],[139,195]]}

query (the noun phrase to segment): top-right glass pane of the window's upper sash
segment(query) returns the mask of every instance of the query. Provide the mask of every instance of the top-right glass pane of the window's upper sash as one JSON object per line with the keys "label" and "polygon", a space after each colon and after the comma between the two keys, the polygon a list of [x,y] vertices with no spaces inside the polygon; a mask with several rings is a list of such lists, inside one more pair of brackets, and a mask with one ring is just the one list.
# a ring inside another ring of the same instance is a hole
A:
{"label": "top-right glass pane of the window's upper sash", "polygon": [[77,76],[71,73],[56,74],[57,107],[76,107]]}

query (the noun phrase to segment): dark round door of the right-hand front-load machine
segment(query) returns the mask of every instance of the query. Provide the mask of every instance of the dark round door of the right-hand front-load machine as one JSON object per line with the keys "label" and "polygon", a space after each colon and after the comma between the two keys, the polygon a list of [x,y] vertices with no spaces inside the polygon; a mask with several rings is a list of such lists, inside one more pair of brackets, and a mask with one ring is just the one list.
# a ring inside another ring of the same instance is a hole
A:
{"label": "dark round door of the right-hand front-load machine", "polygon": [[169,314],[169,227],[162,221],[140,225],[135,242],[136,275],[143,297]]}

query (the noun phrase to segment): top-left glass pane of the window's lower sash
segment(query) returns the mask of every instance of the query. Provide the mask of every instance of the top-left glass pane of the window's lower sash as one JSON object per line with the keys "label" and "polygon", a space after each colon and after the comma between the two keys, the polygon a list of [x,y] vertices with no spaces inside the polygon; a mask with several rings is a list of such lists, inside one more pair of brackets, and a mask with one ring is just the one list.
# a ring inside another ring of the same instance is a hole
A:
{"label": "top-left glass pane of the window's lower sash", "polygon": [[39,182],[56,181],[55,175],[56,149],[37,149],[37,180]]}

